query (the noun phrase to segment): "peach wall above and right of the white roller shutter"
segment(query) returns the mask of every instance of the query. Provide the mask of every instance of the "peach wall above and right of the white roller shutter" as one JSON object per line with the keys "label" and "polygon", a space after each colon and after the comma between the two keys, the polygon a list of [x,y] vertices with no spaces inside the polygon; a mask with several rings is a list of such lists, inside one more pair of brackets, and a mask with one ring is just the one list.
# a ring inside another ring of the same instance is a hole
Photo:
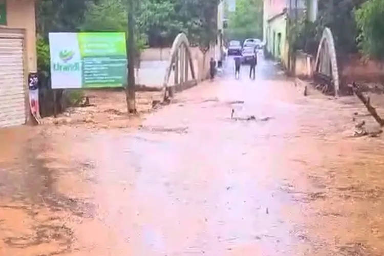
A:
{"label": "peach wall above and right of the white roller shutter", "polygon": [[35,0],[7,0],[7,26],[0,27],[25,29],[27,66],[37,71]]}

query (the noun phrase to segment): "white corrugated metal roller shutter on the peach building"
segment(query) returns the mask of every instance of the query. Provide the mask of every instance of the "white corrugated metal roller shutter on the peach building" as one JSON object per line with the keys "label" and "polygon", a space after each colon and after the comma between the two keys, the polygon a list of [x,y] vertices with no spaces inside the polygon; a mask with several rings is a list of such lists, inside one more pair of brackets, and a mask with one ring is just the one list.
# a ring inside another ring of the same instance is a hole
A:
{"label": "white corrugated metal roller shutter on the peach building", "polygon": [[23,42],[21,32],[0,31],[0,127],[26,122]]}

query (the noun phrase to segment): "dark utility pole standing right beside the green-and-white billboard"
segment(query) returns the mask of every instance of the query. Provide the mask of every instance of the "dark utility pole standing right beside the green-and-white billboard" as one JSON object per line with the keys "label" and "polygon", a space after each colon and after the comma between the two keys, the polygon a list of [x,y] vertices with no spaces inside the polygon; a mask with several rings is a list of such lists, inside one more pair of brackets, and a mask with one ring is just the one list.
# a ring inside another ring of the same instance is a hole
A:
{"label": "dark utility pole standing right beside the green-and-white billboard", "polygon": [[126,104],[128,113],[134,114],[136,111],[136,97],[135,97],[135,7],[134,1],[127,0],[127,13],[128,13],[128,83],[125,88]]}

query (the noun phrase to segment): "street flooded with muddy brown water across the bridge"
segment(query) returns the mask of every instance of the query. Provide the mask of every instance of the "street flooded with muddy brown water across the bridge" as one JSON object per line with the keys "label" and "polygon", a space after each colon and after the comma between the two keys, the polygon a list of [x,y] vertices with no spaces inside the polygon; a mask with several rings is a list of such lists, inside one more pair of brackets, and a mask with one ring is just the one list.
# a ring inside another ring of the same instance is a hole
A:
{"label": "street flooded with muddy brown water across the bridge", "polygon": [[0,255],[384,255],[384,140],[346,134],[364,106],[227,65],[137,130],[0,131]]}

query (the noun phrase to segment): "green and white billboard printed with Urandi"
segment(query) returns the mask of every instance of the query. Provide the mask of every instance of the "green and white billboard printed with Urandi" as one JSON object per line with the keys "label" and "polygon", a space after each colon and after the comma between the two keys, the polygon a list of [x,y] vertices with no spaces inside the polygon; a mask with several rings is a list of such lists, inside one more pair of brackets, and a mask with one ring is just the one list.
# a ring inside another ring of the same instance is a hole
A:
{"label": "green and white billboard printed with Urandi", "polygon": [[49,33],[52,89],[127,84],[124,32]]}

